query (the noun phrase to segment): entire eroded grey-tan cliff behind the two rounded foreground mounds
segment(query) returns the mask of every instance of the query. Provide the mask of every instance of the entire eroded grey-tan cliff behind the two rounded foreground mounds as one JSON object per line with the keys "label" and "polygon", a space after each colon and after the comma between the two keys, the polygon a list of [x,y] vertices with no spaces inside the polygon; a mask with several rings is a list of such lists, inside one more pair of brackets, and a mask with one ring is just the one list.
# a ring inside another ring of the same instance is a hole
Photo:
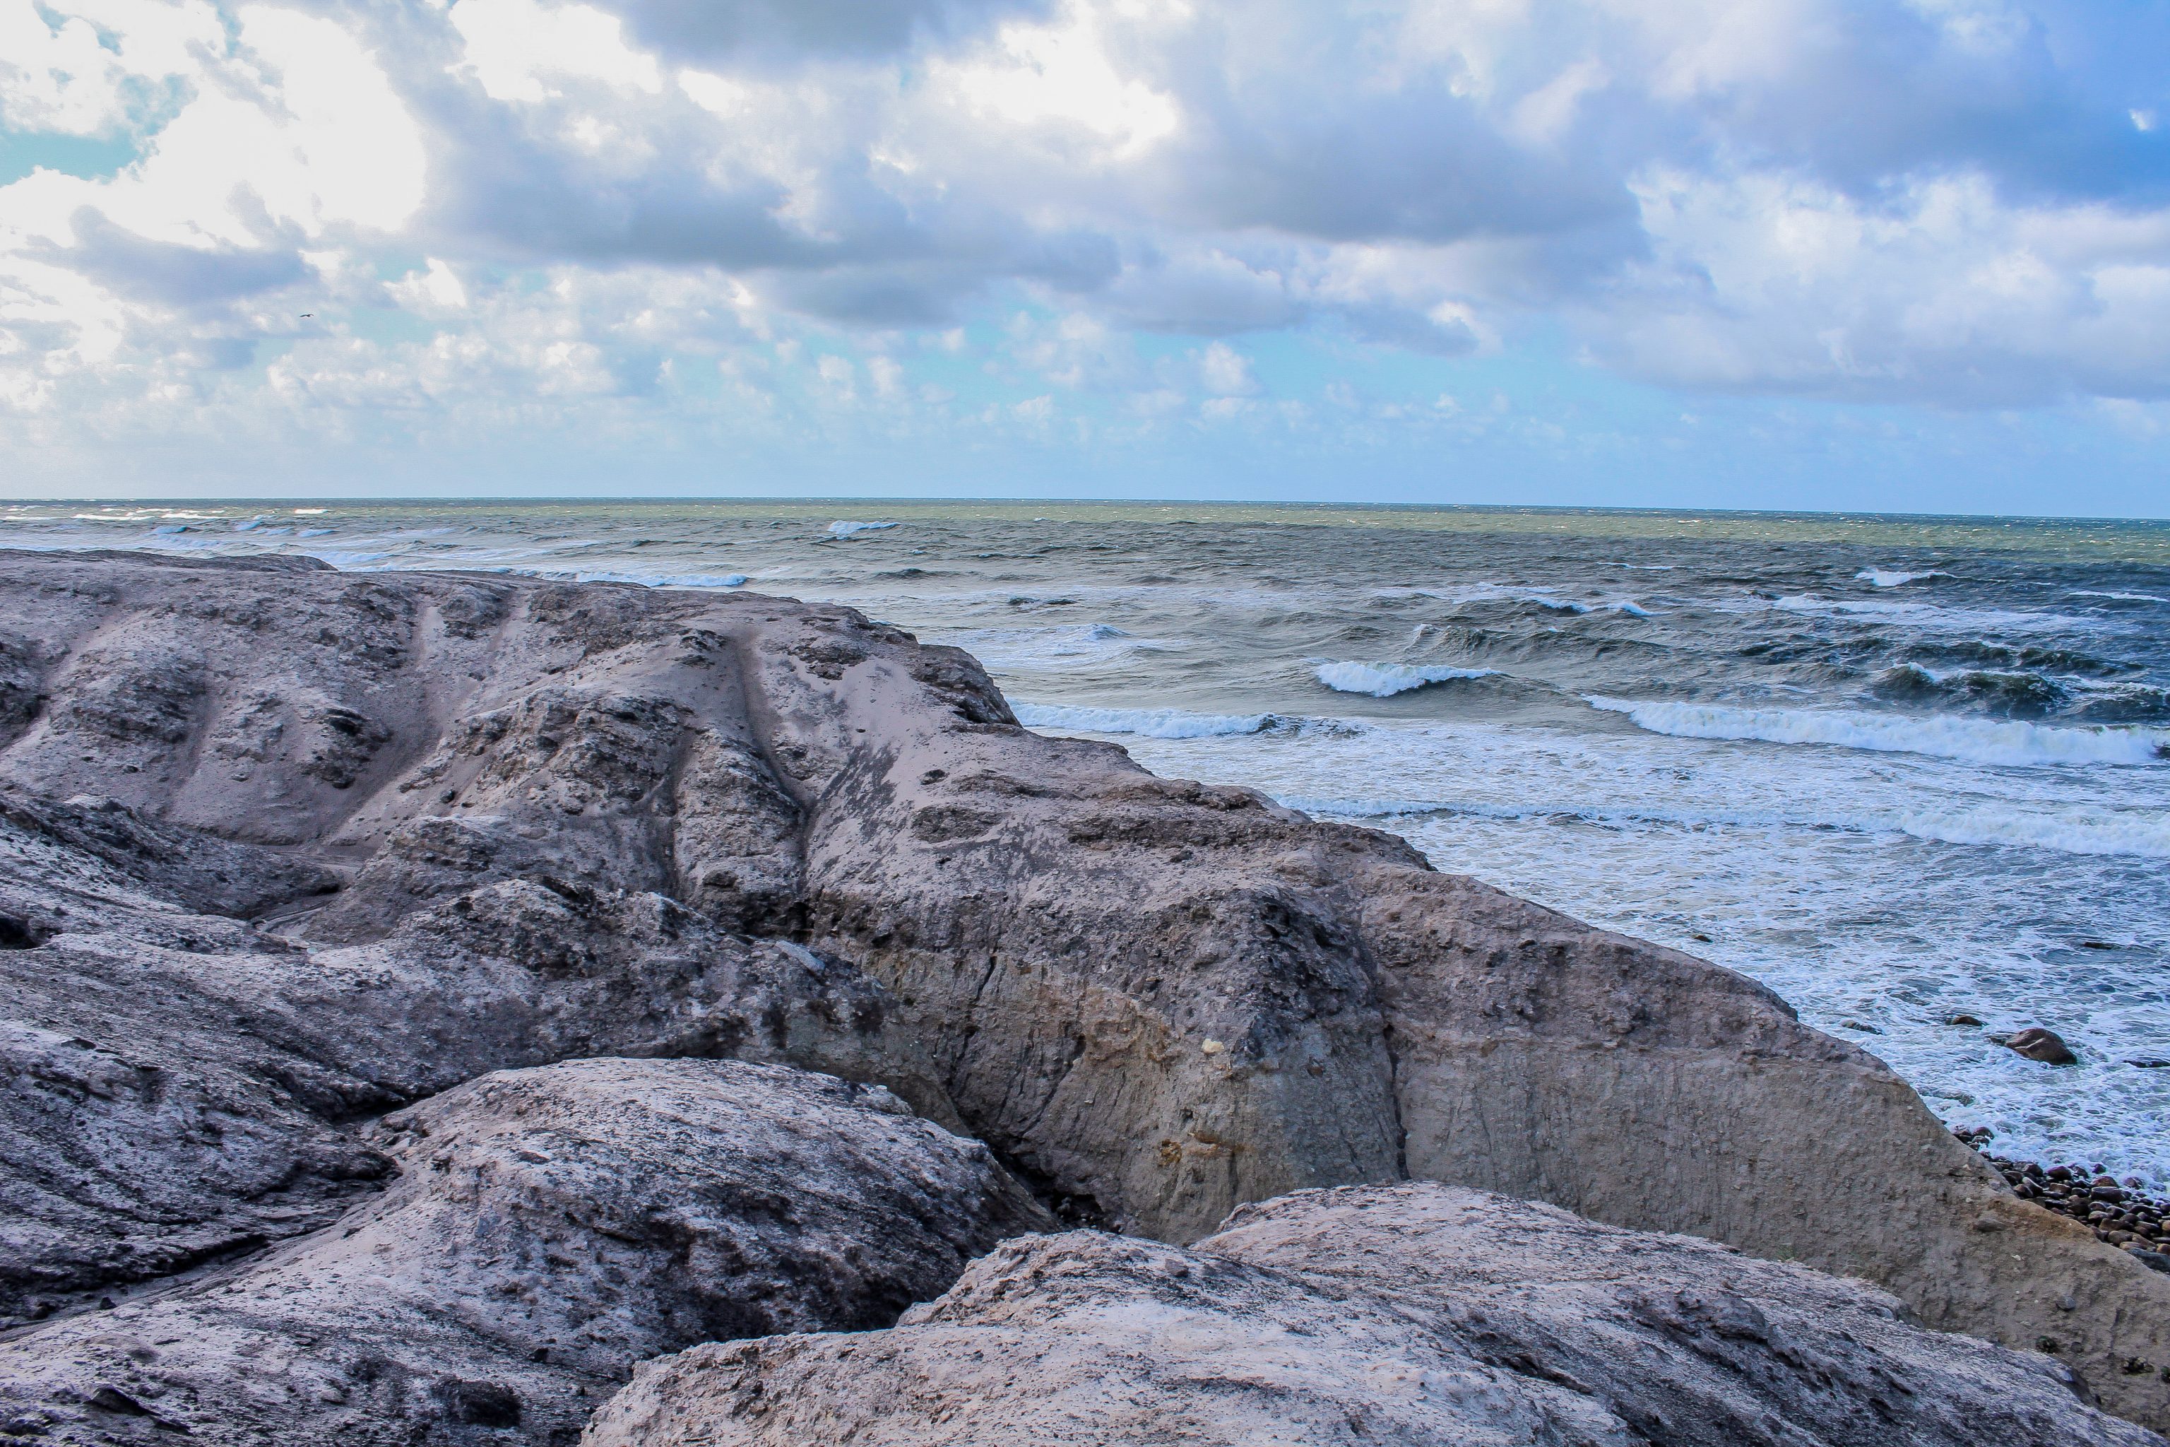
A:
{"label": "entire eroded grey-tan cliff behind the two rounded foreground mounds", "polygon": [[358,1124],[471,1074],[755,1054],[953,1106],[1078,1224],[1484,1187],[1871,1278],[2170,1423],[2170,1278],[1771,991],[1033,735],[851,610],[46,553],[0,558],[0,629],[22,848],[98,870],[0,907],[17,1302],[323,1221],[384,1174]]}

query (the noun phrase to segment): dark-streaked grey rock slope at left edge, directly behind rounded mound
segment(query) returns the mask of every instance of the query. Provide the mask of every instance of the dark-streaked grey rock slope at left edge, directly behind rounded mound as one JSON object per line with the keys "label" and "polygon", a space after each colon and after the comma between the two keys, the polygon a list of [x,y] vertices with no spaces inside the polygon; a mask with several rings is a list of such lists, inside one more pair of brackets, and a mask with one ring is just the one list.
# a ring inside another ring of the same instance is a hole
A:
{"label": "dark-streaked grey rock slope at left edge, directly behind rounded mound", "polygon": [[[85,827],[141,848],[108,863]],[[310,950],[182,900],[189,868],[226,902],[312,874],[189,833],[0,803],[0,918],[41,942],[0,952],[0,1326],[323,1226],[391,1167],[369,1117],[508,1065],[786,1061],[957,1124],[894,1000],[801,946],[516,879]]]}

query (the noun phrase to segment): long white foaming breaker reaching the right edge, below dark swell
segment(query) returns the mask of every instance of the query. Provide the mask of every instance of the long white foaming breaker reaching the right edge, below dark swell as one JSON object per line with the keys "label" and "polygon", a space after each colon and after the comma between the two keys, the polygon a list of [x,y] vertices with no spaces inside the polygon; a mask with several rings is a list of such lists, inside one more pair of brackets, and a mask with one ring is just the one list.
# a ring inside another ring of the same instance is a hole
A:
{"label": "long white foaming breaker reaching the right edge, below dark swell", "polygon": [[2057,729],[1949,714],[1855,714],[1840,709],[1745,709],[1719,703],[1584,699],[1625,714],[1638,729],[1673,738],[1740,738],[1766,744],[1831,744],[1875,753],[1920,753],[1966,764],[2150,764],[2170,746],[2161,729]]}

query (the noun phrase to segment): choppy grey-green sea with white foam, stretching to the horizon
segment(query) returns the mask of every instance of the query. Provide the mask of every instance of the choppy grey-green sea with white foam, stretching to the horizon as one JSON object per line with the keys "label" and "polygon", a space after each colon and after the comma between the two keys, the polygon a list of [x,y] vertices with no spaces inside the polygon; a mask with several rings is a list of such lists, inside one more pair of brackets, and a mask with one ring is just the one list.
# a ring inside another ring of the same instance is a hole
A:
{"label": "choppy grey-green sea with white foam, stretching to the horizon", "polygon": [[1771,985],[2001,1154],[2170,1185],[2170,523],[17,503],[0,545],[848,603],[1033,729],[1406,835]]}

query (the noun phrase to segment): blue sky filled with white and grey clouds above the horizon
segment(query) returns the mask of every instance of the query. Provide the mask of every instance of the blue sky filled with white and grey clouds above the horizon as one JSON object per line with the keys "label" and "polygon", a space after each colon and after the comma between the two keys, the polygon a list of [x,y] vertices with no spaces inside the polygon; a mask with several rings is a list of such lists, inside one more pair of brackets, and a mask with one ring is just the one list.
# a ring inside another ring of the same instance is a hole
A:
{"label": "blue sky filled with white and grey clouds above the horizon", "polygon": [[2159,0],[0,0],[0,497],[2170,516]]}

